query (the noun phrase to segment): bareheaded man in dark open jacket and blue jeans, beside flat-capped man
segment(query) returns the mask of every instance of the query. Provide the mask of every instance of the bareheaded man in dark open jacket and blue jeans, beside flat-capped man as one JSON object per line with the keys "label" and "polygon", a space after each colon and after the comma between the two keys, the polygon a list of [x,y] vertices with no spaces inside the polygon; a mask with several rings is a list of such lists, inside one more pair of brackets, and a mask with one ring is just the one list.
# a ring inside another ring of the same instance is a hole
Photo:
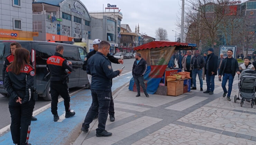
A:
{"label": "bareheaded man in dark open jacket and blue jeans, beside flat-capped man", "polygon": [[200,81],[200,91],[203,91],[203,79],[202,79],[202,69],[204,67],[204,58],[199,55],[199,50],[195,50],[195,56],[191,59],[191,68],[192,68],[192,78],[193,78],[193,88],[192,90],[196,90],[196,74],[198,74],[198,78]]}

